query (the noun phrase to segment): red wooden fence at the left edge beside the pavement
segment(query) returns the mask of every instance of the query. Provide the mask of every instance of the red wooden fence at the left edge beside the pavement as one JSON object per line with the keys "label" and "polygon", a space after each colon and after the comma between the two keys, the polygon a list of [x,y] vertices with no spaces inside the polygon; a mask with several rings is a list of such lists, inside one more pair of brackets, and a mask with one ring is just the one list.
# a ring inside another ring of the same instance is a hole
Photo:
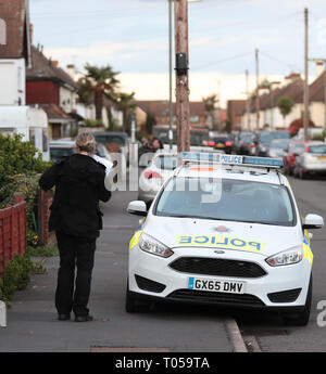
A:
{"label": "red wooden fence at the left edge beside the pavement", "polygon": [[0,279],[15,254],[26,252],[26,203],[17,198],[14,206],[0,210]]}

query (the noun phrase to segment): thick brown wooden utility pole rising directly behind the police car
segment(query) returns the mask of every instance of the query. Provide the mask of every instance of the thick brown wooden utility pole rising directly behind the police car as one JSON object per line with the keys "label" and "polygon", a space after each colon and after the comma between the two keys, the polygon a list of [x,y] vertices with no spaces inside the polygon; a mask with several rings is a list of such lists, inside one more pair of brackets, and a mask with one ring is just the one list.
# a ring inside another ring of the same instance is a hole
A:
{"label": "thick brown wooden utility pole rising directly behind the police car", "polygon": [[178,152],[190,150],[188,1],[175,0],[176,117]]}

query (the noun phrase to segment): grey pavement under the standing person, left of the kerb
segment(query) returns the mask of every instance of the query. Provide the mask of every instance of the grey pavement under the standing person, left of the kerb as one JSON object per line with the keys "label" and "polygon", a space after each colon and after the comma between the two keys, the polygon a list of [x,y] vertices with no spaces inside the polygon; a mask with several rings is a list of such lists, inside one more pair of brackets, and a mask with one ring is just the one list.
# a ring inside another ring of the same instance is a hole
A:
{"label": "grey pavement under the standing person, left of the kerb", "polygon": [[150,348],[172,352],[230,352],[223,315],[202,308],[164,307],[128,314],[124,310],[128,241],[139,217],[125,212],[136,193],[114,193],[102,206],[104,230],[98,241],[89,307],[93,322],[58,321],[54,291],[59,258],[17,292],[0,327],[0,352],[89,352],[92,347]]}

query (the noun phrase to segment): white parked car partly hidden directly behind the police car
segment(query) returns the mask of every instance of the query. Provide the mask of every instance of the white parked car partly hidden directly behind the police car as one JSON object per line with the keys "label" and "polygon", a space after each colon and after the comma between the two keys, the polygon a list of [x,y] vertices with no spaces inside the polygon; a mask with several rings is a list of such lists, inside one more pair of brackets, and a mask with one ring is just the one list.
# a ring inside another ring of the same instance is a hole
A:
{"label": "white parked car partly hidden directly behind the police car", "polygon": [[149,166],[141,172],[138,185],[138,199],[149,207],[163,182],[177,167],[177,153],[158,151],[151,158]]}

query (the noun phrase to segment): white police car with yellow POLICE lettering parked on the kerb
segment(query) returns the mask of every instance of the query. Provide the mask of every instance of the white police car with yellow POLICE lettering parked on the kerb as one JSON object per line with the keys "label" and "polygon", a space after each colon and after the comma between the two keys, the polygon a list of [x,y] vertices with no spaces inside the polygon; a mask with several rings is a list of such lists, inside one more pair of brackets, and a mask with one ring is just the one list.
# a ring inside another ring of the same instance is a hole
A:
{"label": "white police car with yellow POLICE lettering parked on the kerb", "polygon": [[126,310],[140,300],[274,309],[305,325],[312,299],[308,229],[280,159],[183,153],[129,244]]}

